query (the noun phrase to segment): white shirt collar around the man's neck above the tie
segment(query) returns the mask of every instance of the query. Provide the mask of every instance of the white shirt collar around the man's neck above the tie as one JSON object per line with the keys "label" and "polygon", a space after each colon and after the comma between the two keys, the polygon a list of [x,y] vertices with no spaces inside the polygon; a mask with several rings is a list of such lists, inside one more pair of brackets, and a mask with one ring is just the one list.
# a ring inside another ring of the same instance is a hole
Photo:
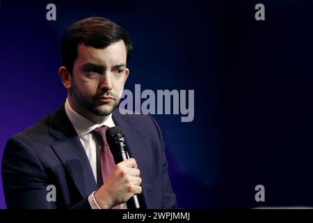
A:
{"label": "white shirt collar around the man's neck above the tie", "polygon": [[93,121],[90,121],[75,112],[74,109],[72,109],[72,107],[70,106],[67,98],[65,101],[65,112],[68,118],[70,118],[70,121],[72,122],[72,125],[74,126],[74,129],[76,130],[79,138],[85,136],[96,128],[101,127],[102,125],[106,125],[109,128],[115,126],[112,119],[112,114],[109,114],[109,117],[103,123],[94,123]]}

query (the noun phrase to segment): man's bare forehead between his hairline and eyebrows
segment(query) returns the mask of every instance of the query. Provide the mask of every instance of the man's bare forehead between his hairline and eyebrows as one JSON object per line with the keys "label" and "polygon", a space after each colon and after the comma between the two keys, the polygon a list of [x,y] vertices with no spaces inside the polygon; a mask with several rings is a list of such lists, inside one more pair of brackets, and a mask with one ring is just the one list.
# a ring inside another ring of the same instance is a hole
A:
{"label": "man's bare forehead between his hairline and eyebrows", "polygon": [[126,63],[127,52],[123,40],[120,40],[104,49],[96,49],[84,44],[77,47],[77,59],[75,62],[83,63],[96,63],[103,64],[104,66],[114,65],[116,63]]}

